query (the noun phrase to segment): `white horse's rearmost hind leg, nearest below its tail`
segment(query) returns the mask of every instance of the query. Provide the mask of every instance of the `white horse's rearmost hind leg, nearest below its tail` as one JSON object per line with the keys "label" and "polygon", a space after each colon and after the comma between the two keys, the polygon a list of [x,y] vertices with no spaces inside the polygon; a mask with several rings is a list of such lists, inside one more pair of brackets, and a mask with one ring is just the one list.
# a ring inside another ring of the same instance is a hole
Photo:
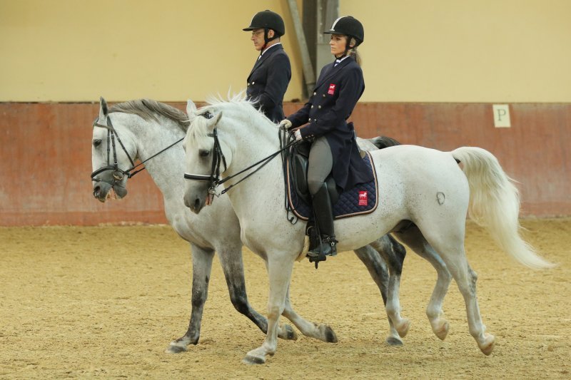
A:
{"label": "white horse's rearmost hind leg, nearest below its tail", "polygon": [[[464,220],[458,221],[458,223],[459,222],[462,222],[462,228],[464,228]],[[424,235],[430,245],[440,252],[440,257],[442,257],[448,270],[450,270],[452,277],[455,279],[456,284],[458,284],[460,293],[464,297],[470,335],[474,337],[482,353],[490,355],[494,349],[495,337],[485,332],[486,327],[482,323],[480,307],[478,306],[476,297],[477,274],[470,268],[468,260],[466,259],[464,231],[453,231],[453,225],[455,225],[455,223],[452,218],[450,218],[450,223],[447,225],[440,224],[440,228],[434,228],[434,226],[431,225],[430,227],[433,228],[425,229]]]}

